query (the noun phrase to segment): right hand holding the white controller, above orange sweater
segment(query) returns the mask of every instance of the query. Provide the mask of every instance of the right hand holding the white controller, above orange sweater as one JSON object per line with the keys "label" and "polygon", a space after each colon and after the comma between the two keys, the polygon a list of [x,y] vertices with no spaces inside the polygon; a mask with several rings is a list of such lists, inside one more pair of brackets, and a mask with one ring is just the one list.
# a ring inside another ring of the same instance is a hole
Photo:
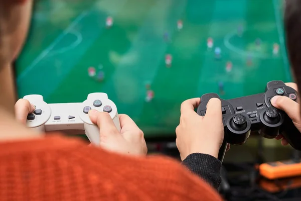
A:
{"label": "right hand holding the white controller, above orange sweater", "polygon": [[120,132],[108,113],[90,110],[89,117],[99,127],[100,147],[121,154],[146,155],[143,132],[130,117],[119,115]]}

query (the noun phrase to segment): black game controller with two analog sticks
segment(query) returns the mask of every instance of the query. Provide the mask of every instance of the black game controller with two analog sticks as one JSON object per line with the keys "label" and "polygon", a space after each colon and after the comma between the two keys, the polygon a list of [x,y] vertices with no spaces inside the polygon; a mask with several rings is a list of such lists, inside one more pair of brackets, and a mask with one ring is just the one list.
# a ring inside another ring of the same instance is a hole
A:
{"label": "black game controller with two analog sticks", "polygon": [[200,116],[205,116],[206,106],[211,98],[219,98],[222,103],[225,137],[218,154],[221,162],[227,143],[242,145],[251,131],[258,131],[264,138],[275,138],[281,133],[294,149],[301,151],[301,133],[283,111],[274,108],[270,103],[275,95],[284,95],[294,101],[297,99],[296,91],[282,81],[268,82],[264,93],[229,100],[221,99],[216,93],[202,95],[197,110]]}

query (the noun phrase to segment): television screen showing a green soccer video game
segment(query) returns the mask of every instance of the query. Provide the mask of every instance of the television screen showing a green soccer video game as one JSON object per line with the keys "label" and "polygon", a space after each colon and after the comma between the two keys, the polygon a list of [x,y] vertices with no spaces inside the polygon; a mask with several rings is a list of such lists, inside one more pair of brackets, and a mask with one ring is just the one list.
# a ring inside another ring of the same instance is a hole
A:
{"label": "television screen showing a green soccer video game", "polygon": [[291,81],[280,0],[37,0],[16,64],[19,97],[105,92],[145,137],[175,135],[180,105]]}

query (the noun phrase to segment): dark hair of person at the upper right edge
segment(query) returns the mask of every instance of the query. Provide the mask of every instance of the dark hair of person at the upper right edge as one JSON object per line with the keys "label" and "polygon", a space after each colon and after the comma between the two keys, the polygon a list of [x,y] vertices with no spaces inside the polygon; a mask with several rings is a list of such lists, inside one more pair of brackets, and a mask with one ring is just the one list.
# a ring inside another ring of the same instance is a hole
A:
{"label": "dark hair of person at the upper right edge", "polygon": [[301,89],[301,0],[286,0],[284,29],[294,80]]}

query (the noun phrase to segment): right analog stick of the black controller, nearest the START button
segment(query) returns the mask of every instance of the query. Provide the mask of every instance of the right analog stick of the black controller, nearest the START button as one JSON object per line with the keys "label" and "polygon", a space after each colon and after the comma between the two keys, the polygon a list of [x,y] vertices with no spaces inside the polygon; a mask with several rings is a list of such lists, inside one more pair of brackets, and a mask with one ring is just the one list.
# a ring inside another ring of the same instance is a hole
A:
{"label": "right analog stick of the black controller, nearest the START button", "polygon": [[260,114],[260,119],[264,124],[259,131],[260,135],[264,138],[275,138],[279,133],[279,127],[283,123],[283,118],[276,108],[268,108],[262,111]]}

